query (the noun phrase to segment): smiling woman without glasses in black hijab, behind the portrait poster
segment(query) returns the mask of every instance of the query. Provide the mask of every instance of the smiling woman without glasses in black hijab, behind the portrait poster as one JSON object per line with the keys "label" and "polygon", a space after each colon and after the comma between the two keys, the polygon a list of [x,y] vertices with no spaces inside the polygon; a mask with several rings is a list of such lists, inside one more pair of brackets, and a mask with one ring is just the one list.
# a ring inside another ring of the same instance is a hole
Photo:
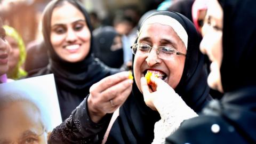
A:
{"label": "smiling woman without glasses in black hijab, behind the portrait poster", "polygon": [[117,71],[92,56],[89,15],[78,1],[51,1],[45,7],[42,23],[49,65],[33,76],[54,74],[64,120],[89,94],[92,84]]}

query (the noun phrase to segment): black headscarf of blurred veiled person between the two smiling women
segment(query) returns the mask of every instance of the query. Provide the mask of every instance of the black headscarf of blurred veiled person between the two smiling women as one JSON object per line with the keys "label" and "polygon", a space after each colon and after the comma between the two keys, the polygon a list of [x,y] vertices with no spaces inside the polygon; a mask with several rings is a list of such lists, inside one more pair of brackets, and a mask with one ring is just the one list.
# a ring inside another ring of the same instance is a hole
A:
{"label": "black headscarf of blurred veiled person between the two smiling women", "polygon": [[118,35],[117,31],[111,26],[100,27],[93,31],[95,41],[93,53],[95,57],[111,68],[120,68],[124,63],[123,47],[118,47],[118,50],[111,50],[114,38]]}

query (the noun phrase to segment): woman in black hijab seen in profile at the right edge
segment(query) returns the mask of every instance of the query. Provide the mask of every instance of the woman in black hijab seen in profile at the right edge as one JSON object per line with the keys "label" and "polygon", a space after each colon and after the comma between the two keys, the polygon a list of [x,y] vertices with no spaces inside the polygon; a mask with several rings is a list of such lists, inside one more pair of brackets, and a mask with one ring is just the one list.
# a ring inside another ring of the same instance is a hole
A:
{"label": "woman in black hijab seen in profile at the right edge", "polygon": [[256,2],[214,0],[208,8],[201,51],[212,61],[209,85],[225,94],[166,141],[256,143]]}

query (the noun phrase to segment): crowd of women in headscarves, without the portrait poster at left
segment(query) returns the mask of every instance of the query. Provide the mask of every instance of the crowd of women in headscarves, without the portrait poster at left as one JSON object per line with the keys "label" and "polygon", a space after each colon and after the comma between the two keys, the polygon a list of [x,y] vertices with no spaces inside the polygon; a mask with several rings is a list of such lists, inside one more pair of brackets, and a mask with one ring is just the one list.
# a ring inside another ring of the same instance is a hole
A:
{"label": "crowd of women in headscarves, without the portrait poster at left", "polygon": [[54,75],[63,122],[48,143],[256,143],[256,2],[163,7],[100,26],[81,2],[53,0],[30,53],[1,20],[1,83]]}

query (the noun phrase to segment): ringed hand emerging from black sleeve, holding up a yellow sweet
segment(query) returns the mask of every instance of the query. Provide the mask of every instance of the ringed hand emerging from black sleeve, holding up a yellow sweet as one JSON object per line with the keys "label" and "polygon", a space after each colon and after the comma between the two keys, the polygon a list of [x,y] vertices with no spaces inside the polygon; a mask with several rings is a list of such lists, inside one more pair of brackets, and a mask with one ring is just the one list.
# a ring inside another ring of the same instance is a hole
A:
{"label": "ringed hand emerging from black sleeve, holding up a yellow sweet", "polygon": [[114,113],[118,107],[123,105],[132,91],[132,83],[129,72],[123,71],[93,84],[87,99],[91,120],[98,123],[103,116]]}

